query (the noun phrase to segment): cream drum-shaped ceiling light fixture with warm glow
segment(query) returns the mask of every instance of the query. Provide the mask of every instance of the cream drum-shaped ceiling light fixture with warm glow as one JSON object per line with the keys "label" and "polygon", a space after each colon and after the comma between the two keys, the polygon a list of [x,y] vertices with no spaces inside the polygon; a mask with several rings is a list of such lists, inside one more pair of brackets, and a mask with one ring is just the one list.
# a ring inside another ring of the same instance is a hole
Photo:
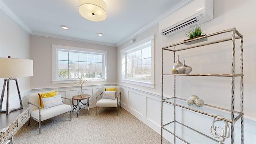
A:
{"label": "cream drum-shaped ceiling light fixture with warm glow", "polygon": [[101,22],[107,17],[107,5],[103,0],[79,0],[78,11],[87,20]]}

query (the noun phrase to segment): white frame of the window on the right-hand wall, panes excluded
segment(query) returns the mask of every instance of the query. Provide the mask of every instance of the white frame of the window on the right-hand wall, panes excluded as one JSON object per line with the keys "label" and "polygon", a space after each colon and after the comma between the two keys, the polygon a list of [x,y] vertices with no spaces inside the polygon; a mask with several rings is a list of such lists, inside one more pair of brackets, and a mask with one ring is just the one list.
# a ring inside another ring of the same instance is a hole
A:
{"label": "white frame of the window on the right-hand wall, panes excluded", "polygon": [[[140,50],[143,48],[138,48],[140,45],[149,42],[151,40],[151,81],[150,82],[145,82],[141,80],[131,80],[131,79],[126,79],[127,78],[127,60],[126,60],[126,54],[135,50]],[[120,58],[121,58],[121,82],[129,83],[129,84],[136,84],[140,86],[145,86],[149,88],[154,88],[154,35],[149,36],[139,42],[136,42],[135,44],[132,44],[131,46],[128,46],[122,50],[120,50]],[[125,76],[123,74],[123,58],[125,58]]]}

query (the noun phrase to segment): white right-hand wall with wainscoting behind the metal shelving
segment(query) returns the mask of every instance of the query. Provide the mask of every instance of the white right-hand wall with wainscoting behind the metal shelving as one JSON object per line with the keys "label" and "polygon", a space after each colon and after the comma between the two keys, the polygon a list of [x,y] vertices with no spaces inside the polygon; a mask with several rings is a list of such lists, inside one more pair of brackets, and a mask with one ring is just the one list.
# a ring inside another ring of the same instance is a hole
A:
{"label": "white right-hand wall with wainscoting behind the metal shelving", "polygon": [[[256,143],[256,113],[255,111],[255,101],[256,101],[256,42],[254,40],[255,32],[254,26],[256,21],[254,16],[256,14],[255,10],[256,1],[255,0],[214,0],[214,19],[201,25],[201,28],[205,34],[211,34],[221,30],[226,30],[229,28],[236,27],[238,32],[244,36],[244,142],[245,143]],[[130,46],[130,42],[125,42],[124,44],[118,46],[118,80],[117,83],[124,87],[124,93],[122,93],[123,98],[126,103],[123,105],[129,112],[134,114],[137,118],[148,124],[151,128],[160,133],[160,112],[161,112],[161,101],[159,100],[161,96],[161,48],[163,46],[168,46],[170,44],[175,44],[188,39],[184,37],[184,32],[180,34],[175,34],[170,37],[160,36],[158,30],[158,24],[152,28],[146,30],[142,34],[136,36],[136,42],[155,34],[155,88],[145,88],[143,86],[130,85],[121,82],[121,65],[120,65],[120,50]],[[180,60],[186,59],[186,64],[192,66],[194,72],[216,72],[216,73],[230,73],[230,48],[231,45],[217,44],[210,47],[207,50],[196,49],[189,51],[188,53],[180,53]],[[230,46],[230,47],[228,47]],[[226,47],[226,48],[225,48]],[[239,50],[238,50],[239,52]],[[236,52],[238,54],[238,52]],[[236,55],[237,56],[237,55]],[[165,59],[164,66],[172,69],[173,58]],[[168,64],[167,64],[168,63]],[[238,62],[237,62],[238,63]],[[236,70],[239,69],[236,65]],[[193,73],[192,71],[192,73]],[[168,79],[169,80],[169,79]],[[220,80],[210,78],[205,82],[204,77],[190,77],[190,78],[180,78],[186,83],[181,83],[177,89],[177,94],[179,97],[188,98],[192,94],[200,96],[207,104],[217,105],[221,107],[226,107],[230,109],[230,96],[231,96],[231,80]],[[182,82],[180,81],[180,82]],[[211,82],[209,84],[209,81]],[[167,86],[166,86],[167,85]],[[173,87],[173,80],[170,79],[169,82],[165,84],[166,88],[170,86]],[[239,83],[236,83],[239,90]],[[173,92],[168,91],[166,96],[172,96]],[[240,92],[238,91],[238,97]],[[176,95],[177,96],[177,95]],[[240,100],[236,97],[236,109],[240,107]],[[152,107],[155,107],[152,110]],[[169,106],[171,107],[171,106]],[[171,110],[170,110],[171,111]],[[150,115],[148,115],[150,114]],[[190,120],[202,120],[199,122],[204,122],[210,124],[212,118],[198,116],[192,113],[184,111],[183,117]],[[167,118],[164,121],[169,121],[172,117],[172,111],[169,112]],[[154,117],[155,116],[155,117]],[[184,122],[187,122],[184,120]],[[189,123],[189,122],[188,122]],[[239,124],[239,123],[238,123]],[[201,125],[199,128],[204,128],[206,125]],[[209,126],[208,126],[209,127]],[[239,125],[236,127],[238,128]],[[205,128],[204,128],[205,129]],[[204,130],[202,130],[204,131]],[[209,128],[206,128],[209,134]],[[239,141],[240,132],[236,130],[235,137],[236,142]],[[228,143],[228,140],[226,140]],[[239,142],[238,142],[239,143]]]}

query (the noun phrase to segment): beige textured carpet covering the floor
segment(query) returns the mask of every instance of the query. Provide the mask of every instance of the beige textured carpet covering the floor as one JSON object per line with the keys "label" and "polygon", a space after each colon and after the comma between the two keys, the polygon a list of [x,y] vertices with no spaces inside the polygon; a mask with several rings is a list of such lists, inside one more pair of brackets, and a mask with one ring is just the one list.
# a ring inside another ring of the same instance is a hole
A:
{"label": "beige textured carpet covering the floor", "polygon": [[[132,114],[120,108],[91,108],[72,116],[69,113],[41,123],[31,119],[14,135],[14,144],[160,144],[161,136]],[[163,144],[169,143],[167,140]]]}

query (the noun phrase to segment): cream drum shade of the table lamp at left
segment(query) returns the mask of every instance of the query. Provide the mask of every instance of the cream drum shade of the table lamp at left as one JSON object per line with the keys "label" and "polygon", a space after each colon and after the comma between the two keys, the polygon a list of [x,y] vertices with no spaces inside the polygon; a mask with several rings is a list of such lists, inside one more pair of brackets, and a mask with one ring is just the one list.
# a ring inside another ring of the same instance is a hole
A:
{"label": "cream drum shade of the table lamp at left", "polygon": [[33,75],[33,60],[0,58],[0,78],[17,78]]}

